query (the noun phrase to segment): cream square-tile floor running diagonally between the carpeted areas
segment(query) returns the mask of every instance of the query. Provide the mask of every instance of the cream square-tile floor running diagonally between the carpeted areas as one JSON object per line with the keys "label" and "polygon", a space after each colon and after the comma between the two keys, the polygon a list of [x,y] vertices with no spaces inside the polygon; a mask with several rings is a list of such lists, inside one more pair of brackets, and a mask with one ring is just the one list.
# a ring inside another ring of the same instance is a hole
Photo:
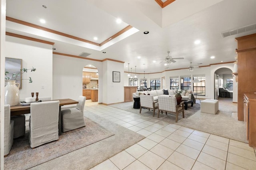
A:
{"label": "cream square-tile floor running diagonally between the carpeted areas", "polygon": [[246,143],[106,105],[86,110],[146,136],[91,170],[256,170]]}

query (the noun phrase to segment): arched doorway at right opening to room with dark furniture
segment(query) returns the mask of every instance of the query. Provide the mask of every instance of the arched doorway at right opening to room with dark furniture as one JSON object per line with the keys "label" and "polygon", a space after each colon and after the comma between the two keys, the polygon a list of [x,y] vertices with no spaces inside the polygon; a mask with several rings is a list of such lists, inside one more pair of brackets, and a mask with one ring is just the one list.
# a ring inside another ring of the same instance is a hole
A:
{"label": "arched doorway at right opening to room with dark furniture", "polygon": [[232,70],[226,67],[219,68],[214,72],[214,96],[215,99],[233,98],[233,75]]}

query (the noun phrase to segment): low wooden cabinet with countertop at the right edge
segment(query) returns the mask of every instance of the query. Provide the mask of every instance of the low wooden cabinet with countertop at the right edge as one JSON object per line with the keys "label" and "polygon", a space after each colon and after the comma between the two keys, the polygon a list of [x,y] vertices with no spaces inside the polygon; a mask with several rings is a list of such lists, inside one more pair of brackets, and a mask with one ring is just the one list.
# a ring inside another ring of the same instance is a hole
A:
{"label": "low wooden cabinet with countertop at the right edge", "polygon": [[249,146],[256,147],[256,94],[244,94],[244,124]]}

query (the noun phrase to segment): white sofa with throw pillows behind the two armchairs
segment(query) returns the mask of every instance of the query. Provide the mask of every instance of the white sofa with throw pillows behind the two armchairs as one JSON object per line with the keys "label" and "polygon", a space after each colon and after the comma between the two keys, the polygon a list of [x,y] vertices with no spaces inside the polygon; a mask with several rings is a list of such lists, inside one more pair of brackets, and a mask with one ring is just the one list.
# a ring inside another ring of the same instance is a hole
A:
{"label": "white sofa with throw pillows behind the two armchairs", "polygon": [[[167,89],[165,89],[165,92],[167,92]],[[158,96],[160,95],[167,95],[164,94],[164,90],[152,90],[152,91],[136,91],[136,93],[132,93],[132,97],[140,97],[140,95],[152,95],[154,97],[154,101],[158,101]],[[168,96],[174,97],[174,90],[168,90]],[[190,94],[186,95],[186,91],[182,91],[181,97],[182,99],[192,99],[193,92],[191,91]]]}

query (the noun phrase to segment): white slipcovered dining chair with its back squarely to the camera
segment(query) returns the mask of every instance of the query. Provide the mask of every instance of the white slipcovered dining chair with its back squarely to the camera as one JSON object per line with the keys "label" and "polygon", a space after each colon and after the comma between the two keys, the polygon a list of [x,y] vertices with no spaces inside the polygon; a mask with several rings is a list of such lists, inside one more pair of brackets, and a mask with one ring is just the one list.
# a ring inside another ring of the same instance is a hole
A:
{"label": "white slipcovered dining chair with its back squarely to the camera", "polygon": [[30,104],[29,142],[34,148],[58,140],[60,101],[45,101]]}

